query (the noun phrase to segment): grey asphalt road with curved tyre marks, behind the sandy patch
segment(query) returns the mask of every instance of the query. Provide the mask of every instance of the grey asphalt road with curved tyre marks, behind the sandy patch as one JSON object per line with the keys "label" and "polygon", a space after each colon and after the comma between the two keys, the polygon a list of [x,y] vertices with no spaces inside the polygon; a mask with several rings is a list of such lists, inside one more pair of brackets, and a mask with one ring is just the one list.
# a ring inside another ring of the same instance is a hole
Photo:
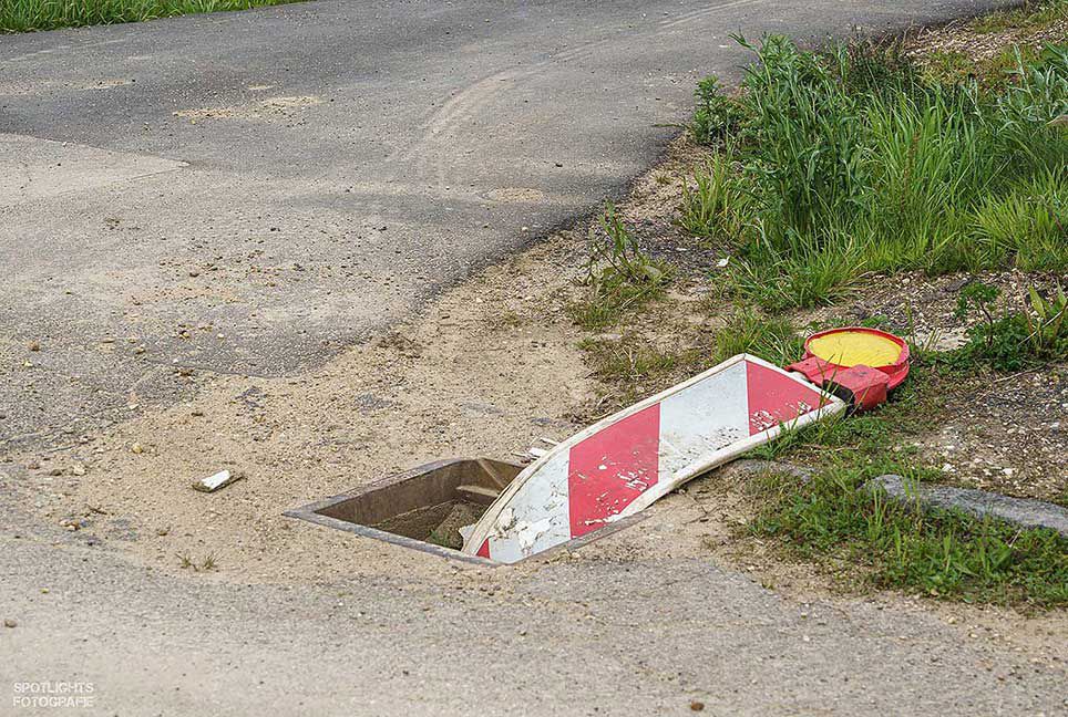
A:
{"label": "grey asphalt road with curved tyre marks, behind the sandy patch", "polygon": [[0,37],[0,449],[403,319],[619,194],[695,82],[738,75],[731,32],[994,4],[327,0]]}

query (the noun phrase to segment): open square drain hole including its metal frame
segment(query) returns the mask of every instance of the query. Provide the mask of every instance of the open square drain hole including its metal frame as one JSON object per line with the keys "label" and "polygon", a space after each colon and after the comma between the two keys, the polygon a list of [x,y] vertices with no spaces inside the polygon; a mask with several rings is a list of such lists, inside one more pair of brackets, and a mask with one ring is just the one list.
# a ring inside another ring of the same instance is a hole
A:
{"label": "open square drain hole including its metal frame", "polygon": [[[460,552],[460,528],[475,523],[523,468],[489,458],[439,460],[285,515],[443,558],[496,565],[501,563]],[[577,548],[643,518],[639,513],[619,520],[554,550]]]}

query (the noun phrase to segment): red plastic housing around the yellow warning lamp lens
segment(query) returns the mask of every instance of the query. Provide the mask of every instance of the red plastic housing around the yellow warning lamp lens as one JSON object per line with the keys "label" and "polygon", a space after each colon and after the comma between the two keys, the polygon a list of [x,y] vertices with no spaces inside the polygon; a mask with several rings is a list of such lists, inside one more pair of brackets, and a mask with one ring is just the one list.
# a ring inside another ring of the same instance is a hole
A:
{"label": "red plastic housing around the yellow warning lamp lens", "polygon": [[[901,353],[897,361],[885,366],[840,366],[814,355],[810,344],[814,339],[833,333],[853,332],[870,333],[887,339],[898,346]],[[804,342],[804,358],[787,366],[787,371],[795,371],[818,386],[832,393],[845,394],[844,398],[853,404],[855,411],[871,411],[885,403],[886,395],[896,388],[908,375],[908,344],[894,334],[869,329],[866,326],[848,326],[831,329],[812,334]]]}

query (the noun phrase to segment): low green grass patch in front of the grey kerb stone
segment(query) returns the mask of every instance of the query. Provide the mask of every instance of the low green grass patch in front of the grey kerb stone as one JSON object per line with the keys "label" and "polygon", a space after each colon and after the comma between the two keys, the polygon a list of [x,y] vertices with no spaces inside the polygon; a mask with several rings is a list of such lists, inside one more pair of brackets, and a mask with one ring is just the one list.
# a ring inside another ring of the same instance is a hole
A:
{"label": "low green grass patch in front of the grey kerb stone", "polygon": [[1068,540],[948,511],[925,512],[861,490],[863,471],[839,469],[808,485],[772,476],[752,530],[795,555],[862,567],[877,588],[965,602],[1068,606]]}

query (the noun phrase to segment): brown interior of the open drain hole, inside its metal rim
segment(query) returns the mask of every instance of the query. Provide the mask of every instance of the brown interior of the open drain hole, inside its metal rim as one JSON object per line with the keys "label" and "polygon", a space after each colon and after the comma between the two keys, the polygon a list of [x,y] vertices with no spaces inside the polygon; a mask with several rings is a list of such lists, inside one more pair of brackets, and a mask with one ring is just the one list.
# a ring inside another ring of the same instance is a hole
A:
{"label": "brown interior of the open drain hole, inside its metal rim", "polygon": [[459,549],[475,522],[523,466],[486,458],[433,464],[387,478],[316,512]]}

